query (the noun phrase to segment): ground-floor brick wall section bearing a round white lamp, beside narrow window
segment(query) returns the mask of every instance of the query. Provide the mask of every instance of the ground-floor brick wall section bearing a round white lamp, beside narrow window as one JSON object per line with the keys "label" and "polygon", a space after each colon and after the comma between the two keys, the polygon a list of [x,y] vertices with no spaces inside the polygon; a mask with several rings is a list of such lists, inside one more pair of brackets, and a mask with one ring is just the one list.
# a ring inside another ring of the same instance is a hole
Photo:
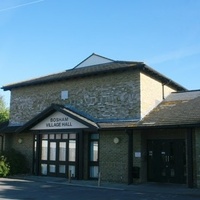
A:
{"label": "ground-floor brick wall section bearing a round white lamp, beside narrow window", "polygon": [[[113,139],[119,138],[115,144]],[[100,133],[99,167],[103,181],[128,182],[128,134],[124,131]]]}

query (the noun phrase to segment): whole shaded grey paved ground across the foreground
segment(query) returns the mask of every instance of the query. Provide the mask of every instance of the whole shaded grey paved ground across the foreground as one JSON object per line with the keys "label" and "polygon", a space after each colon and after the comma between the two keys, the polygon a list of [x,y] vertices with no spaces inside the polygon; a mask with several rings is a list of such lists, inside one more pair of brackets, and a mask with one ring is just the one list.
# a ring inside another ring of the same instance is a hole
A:
{"label": "whole shaded grey paved ground across the foreground", "polygon": [[97,181],[76,181],[63,178],[21,176],[0,178],[0,199],[70,199],[70,200],[197,200],[199,189],[183,185],[125,185]]}

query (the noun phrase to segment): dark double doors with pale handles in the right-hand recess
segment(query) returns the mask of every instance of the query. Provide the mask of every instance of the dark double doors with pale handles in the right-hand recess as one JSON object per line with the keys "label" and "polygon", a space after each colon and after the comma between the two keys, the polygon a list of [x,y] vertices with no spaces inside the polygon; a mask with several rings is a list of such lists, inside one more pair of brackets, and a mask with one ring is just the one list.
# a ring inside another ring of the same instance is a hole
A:
{"label": "dark double doors with pale handles in the right-hand recess", "polygon": [[148,181],[186,183],[184,140],[148,140]]}

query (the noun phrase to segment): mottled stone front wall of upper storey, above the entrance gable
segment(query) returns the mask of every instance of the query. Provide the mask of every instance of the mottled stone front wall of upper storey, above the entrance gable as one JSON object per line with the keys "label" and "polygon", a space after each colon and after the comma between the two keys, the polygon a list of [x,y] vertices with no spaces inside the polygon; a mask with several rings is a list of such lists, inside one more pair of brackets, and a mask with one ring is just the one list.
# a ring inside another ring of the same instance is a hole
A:
{"label": "mottled stone front wall of upper storey, above the entrance gable", "polygon": [[[11,91],[12,124],[23,124],[52,103],[68,104],[98,119],[139,118],[139,72],[121,72],[16,88]],[[69,98],[61,99],[67,90]]]}

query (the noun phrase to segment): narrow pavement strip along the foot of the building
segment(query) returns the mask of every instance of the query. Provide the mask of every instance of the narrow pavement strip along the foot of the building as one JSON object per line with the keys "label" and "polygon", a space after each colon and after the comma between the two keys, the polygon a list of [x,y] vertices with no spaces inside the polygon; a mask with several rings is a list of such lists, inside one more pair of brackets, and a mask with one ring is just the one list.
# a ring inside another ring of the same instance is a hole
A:
{"label": "narrow pavement strip along the foot of the building", "polygon": [[49,184],[62,184],[66,186],[76,187],[92,187],[102,188],[108,190],[129,190],[136,193],[166,193],[177,195],[192,195],[200,198],[200,189],[188,188],[182,184],[168,184],[168,183],[142,183],[142,184],[123,184],[113,182],[98,182],[97,180],[68,180],[66,178],[46,177],[46,176],[33,176],[33,175],[20,175],[12,176],[8,179],[28,180],[33,182],[44,182]]}

